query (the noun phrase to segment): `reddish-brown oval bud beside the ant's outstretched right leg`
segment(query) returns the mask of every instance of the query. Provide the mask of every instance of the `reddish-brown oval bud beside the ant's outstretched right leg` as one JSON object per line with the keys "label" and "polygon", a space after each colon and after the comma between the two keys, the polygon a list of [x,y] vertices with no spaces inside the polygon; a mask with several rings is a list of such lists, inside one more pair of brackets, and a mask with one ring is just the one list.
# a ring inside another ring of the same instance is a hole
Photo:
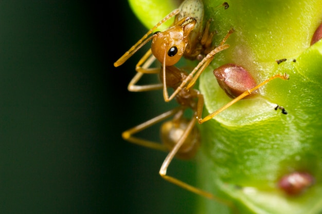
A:
{"label": "reddish-brown oval bud beside the ant's outstretched right leg", "polygon": [[236,98],[256,86],[253,76],[245,68],[235,64],[220,66],[213,70],[213,74],[216,76],[219,86],[230,98]]}

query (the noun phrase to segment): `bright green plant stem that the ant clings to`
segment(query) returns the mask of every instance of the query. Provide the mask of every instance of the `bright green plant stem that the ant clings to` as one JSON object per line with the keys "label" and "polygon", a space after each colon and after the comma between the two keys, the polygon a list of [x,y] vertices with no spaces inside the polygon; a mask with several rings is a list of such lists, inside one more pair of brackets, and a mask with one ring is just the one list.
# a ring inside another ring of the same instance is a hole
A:
{"label": "bright green plant stem that the ant clings to", "polygon": [[[174,1],[130,1],[151,28],[177,7]],[[134,4],[135,3],[135,4]],[[219,44],[230,27],[227,44],[200,77],[204,116],[231,99],[219,87],[213,69],[226,63],[243,66],[258,83],[277,74],[253,99],[241,100],[199,126],[200,185],[235,203],[240,213],[320,213],[322,210],[322,42],[310,46],[322,21],[320,1],[205,0],[205,20]],[[164,26],[164,28],[167,25]],[[278,64],[276,61],[286,59]],[[288,114],[275,111],[283,106]],[[285,174],[306,171],[315,184],[299,196],[287,196],[277,183]],[[229,213],[220,203],[203,200],[200,213]]]}

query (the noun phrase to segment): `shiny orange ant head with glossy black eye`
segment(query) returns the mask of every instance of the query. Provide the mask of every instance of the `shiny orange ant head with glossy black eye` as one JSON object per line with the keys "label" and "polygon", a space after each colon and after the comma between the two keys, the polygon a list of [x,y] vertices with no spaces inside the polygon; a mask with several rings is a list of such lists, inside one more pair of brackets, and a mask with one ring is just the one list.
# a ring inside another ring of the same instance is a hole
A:
{"label": "shiny orange ant head with glossy black eye", "polygon": [[156,32],[151,44],[156,59],[166,66],[176,64],[186,50],[187,37],[195,24],[195,18],[185,17],[167,30]]}

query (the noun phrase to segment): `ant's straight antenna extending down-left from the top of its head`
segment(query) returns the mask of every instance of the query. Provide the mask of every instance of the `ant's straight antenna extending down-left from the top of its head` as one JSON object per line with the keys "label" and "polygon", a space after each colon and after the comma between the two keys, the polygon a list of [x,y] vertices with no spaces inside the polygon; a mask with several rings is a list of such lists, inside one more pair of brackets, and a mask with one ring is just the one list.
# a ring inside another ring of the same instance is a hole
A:
{"label": "ant's straight antenna extending down-left from the top of its head", "polygon": [[175,9],[171,13],[169,13],[166,17],[163,18],[160,22],[158,22],[153,28],[151,28],[142,38],[140,38],[135,45],[133,45],[126,53],[124,53],[120,59],[118,59],[115,63],[114,66],[118,67],[122,65],[124,62],[126,62],[138,49],[140,49],[142,46],[147,44],[153,36],[150,36],[147,38],[156,28],[158,28],[160,25],[165,23],[167,20],[169,20],[172,16],[178,14],[180,12],[180,9]]}

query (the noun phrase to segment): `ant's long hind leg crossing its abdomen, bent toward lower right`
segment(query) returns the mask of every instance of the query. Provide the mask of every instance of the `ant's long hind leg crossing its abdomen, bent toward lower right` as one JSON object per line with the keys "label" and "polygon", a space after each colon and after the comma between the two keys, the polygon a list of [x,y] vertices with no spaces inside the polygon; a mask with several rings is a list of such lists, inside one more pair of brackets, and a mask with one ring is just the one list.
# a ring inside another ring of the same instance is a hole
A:
{"label": "ant's long hind leg crossing its abdomen, bent toward lower right", "polygon": [[182,137],[180,138],[180,140],[175,144],[175,146],[172,148],[172,150],[169,152],[169,154],[167,155],[166,159],[164,160],[160,170],[159,170],[159,174],[160,176],[165,179],[166,181],[173,183],[177,186],[180,186],[188,191],[191,191],[193,193],[199,194],[200,196],[206,197],[208,199],[214,200],[216,202],[220,202],[223,204],[226,204],[229,207],[234,207],[234,205],[231,204],[231,202],[229,201],[225,201],[223,199],[220,199],[216,196],[214,196],[212,193],[210,192],[206,192],[202,189],[196,188],[194,186],[191,186],[181,180],[178,180],[176,178],[173,178],[171,176],[167,175],[167,169],[169,167],[169,164],[171,163],[172,159],[174,158],[174,156],[176,155],[176,153],[178,152],[178,150],[180,149],[180,147],[183,145],[183,143],[185,142],[185,140],[187,139],[189,133],[191,132],[191,130],[193,129],[194,125],[195,125],[195,117],[193,117],[193,119],[190,120],[186,130],[184,131]]}

